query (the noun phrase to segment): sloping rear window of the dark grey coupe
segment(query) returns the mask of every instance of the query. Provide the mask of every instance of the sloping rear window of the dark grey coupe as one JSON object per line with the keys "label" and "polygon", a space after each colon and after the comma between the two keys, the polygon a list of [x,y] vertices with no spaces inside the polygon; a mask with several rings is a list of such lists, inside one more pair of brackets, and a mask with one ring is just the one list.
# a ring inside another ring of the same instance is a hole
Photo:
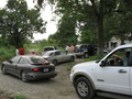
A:
{"label": "sloping rear window of the dark grey coupe", "polygon": [[43,57],[28,57],[30,64],[47,63]]}

